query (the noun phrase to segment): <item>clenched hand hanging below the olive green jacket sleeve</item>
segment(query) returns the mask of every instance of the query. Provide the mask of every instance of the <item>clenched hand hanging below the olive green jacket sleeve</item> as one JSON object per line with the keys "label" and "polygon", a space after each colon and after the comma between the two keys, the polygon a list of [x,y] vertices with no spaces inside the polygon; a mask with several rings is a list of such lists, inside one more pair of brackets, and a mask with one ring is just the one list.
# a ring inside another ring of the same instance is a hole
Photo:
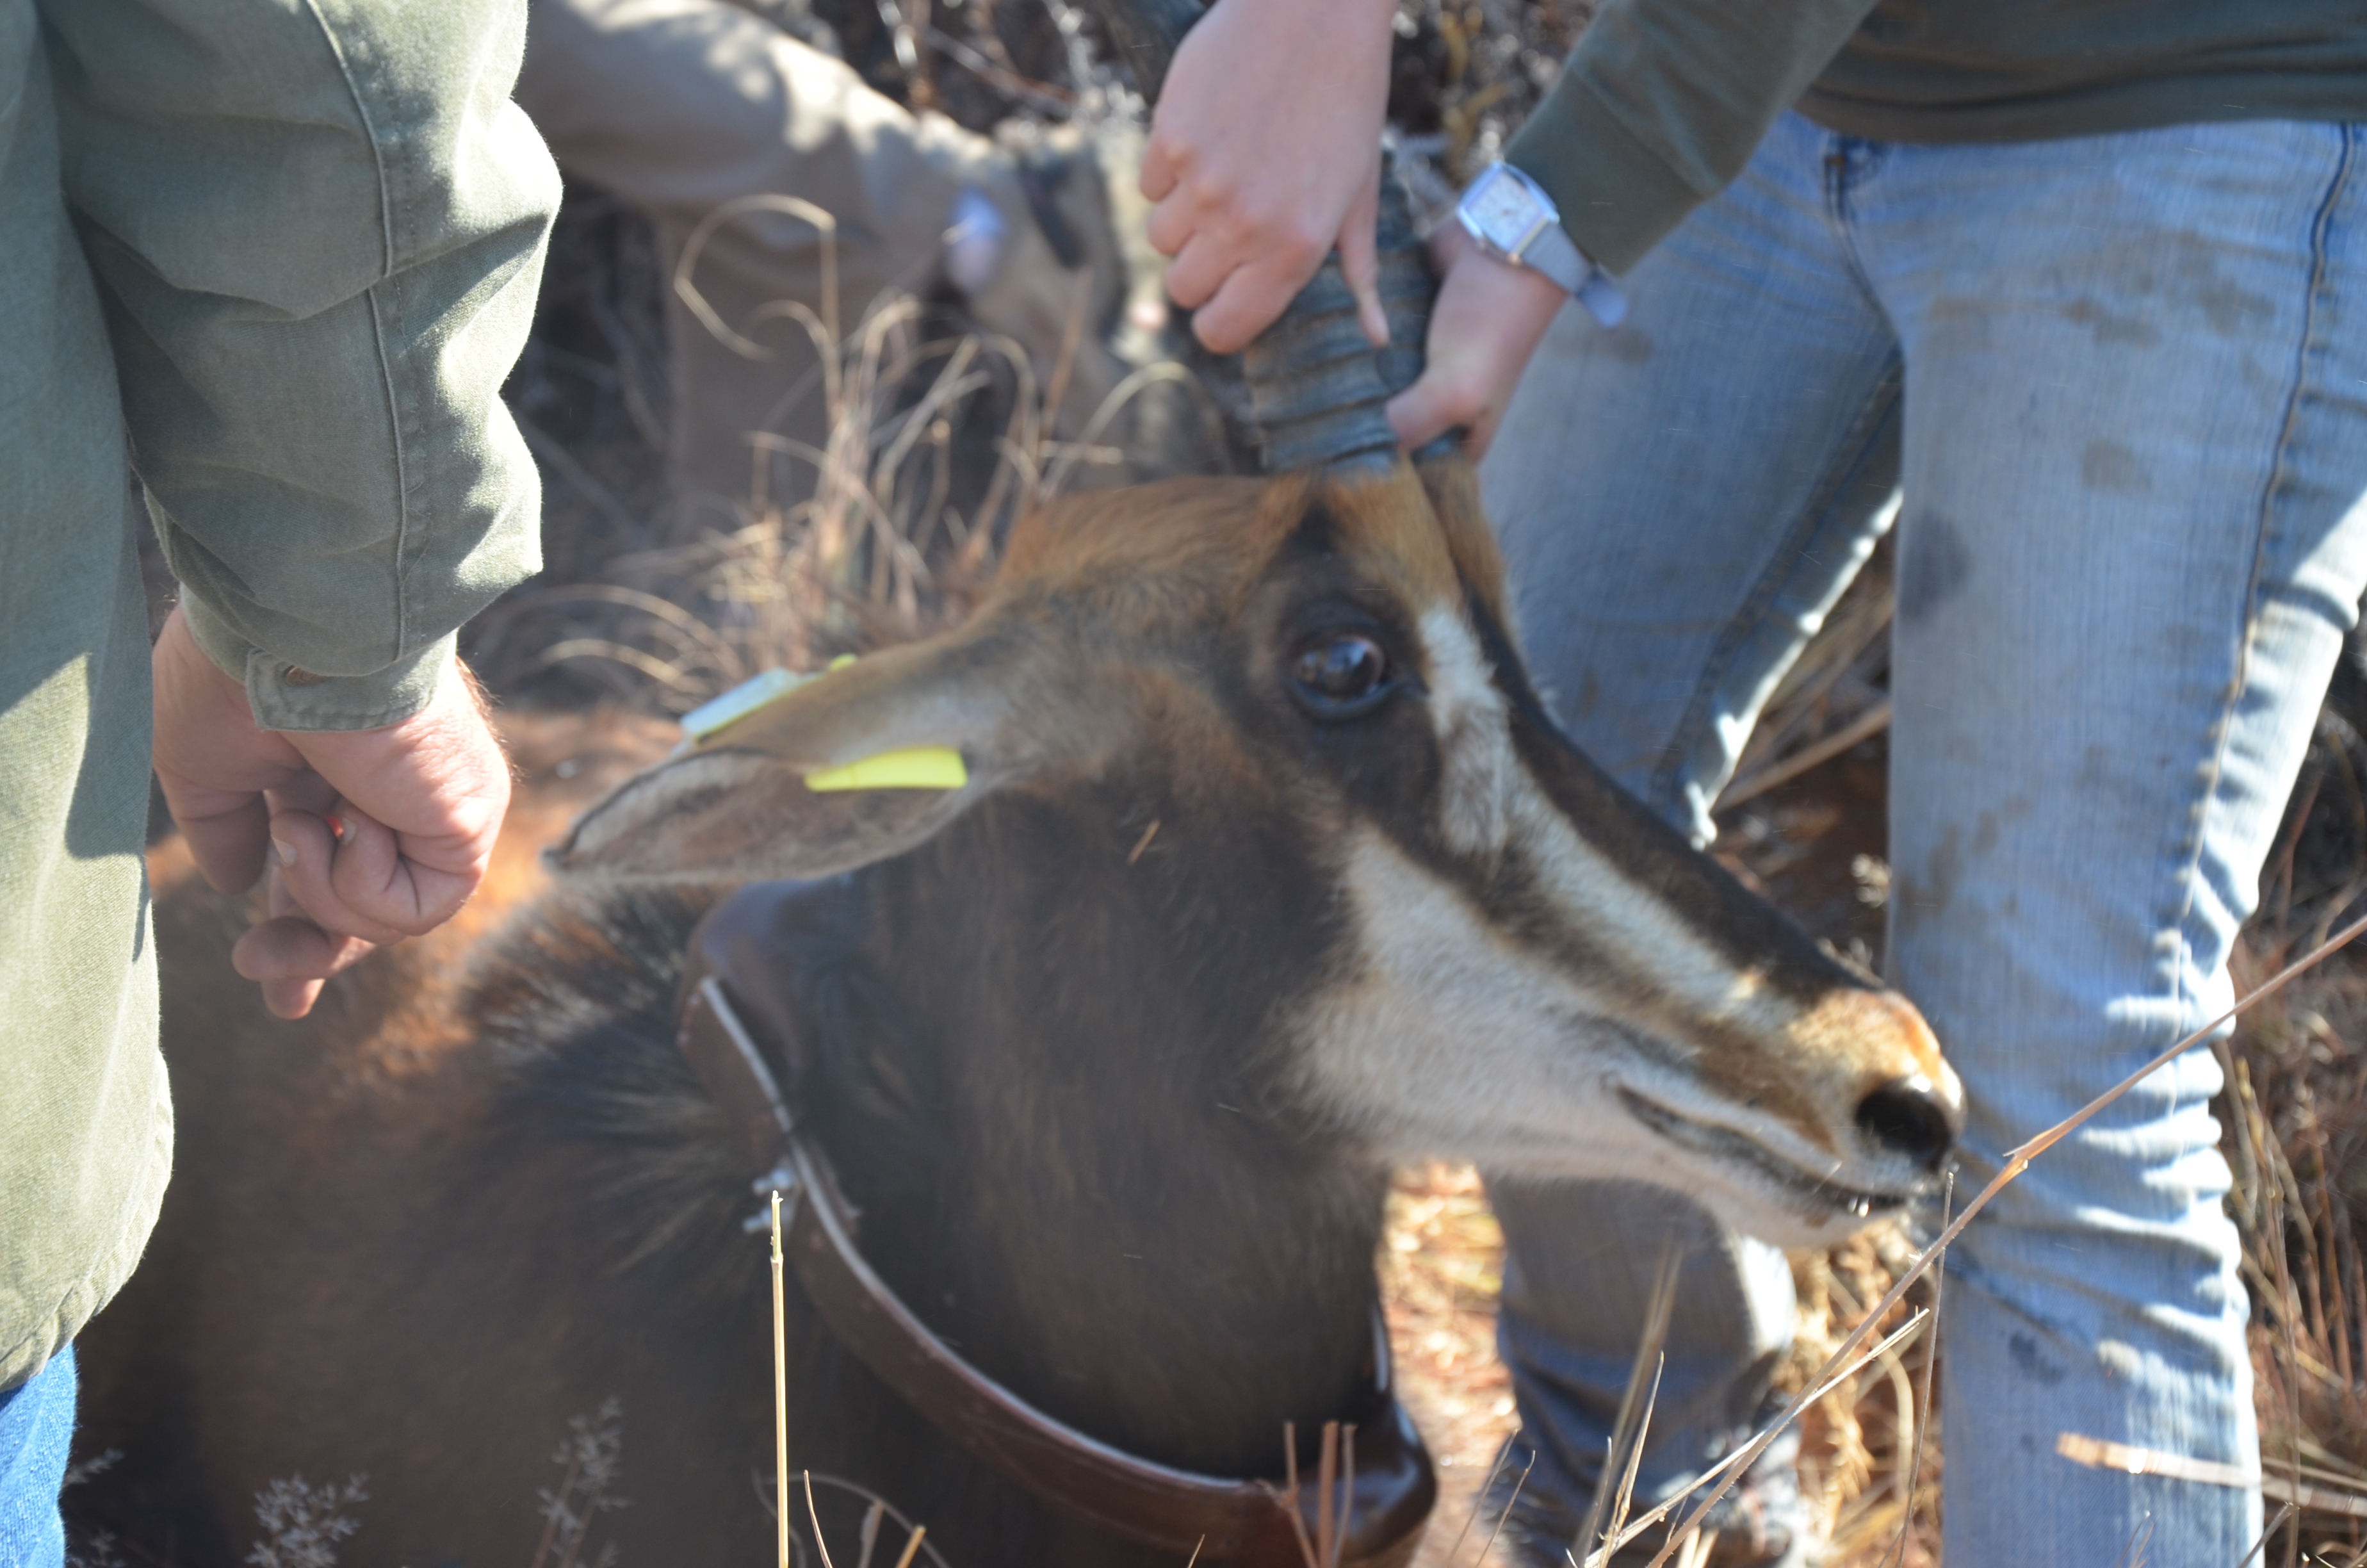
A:
{"label": "clenched hand hanging below the olive green jacket sleeve", "polygon": [[305,1016],[329,976],[433,931],[485,879],[509,763],[457,666],[400,725],[312,732],[258,730],[178,609],[154,670],[156,782],[199,872],[241,893],[272,850],[270,917],[230,962],[277,1016]]}

